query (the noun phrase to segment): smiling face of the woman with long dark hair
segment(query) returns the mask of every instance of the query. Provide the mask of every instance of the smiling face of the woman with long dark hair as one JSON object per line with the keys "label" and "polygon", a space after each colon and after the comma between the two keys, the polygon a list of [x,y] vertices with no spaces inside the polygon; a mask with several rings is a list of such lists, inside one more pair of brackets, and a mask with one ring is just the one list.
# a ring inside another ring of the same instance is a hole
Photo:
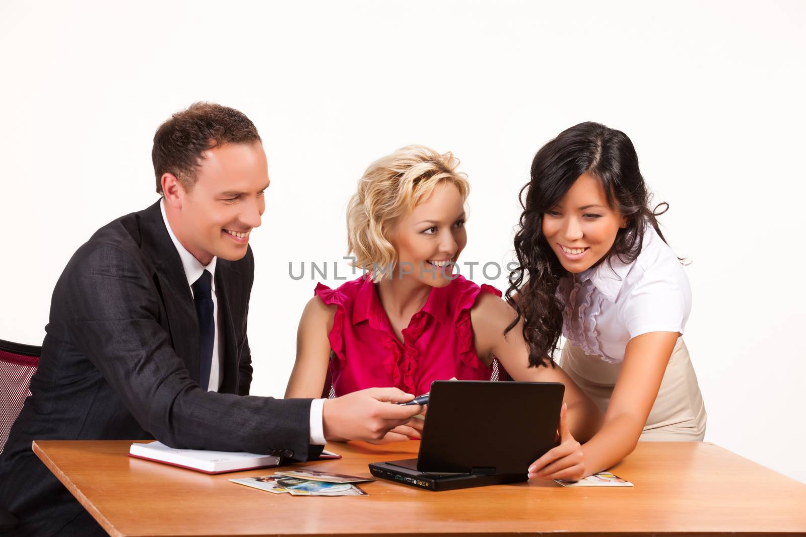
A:
{"label": "smiling face of the woman with long dark hair", "polygon": [[543,214],[543,236],[568,272],[587,271],[610,251],[625,218],[610,209],[596,176],[584,173]]}

